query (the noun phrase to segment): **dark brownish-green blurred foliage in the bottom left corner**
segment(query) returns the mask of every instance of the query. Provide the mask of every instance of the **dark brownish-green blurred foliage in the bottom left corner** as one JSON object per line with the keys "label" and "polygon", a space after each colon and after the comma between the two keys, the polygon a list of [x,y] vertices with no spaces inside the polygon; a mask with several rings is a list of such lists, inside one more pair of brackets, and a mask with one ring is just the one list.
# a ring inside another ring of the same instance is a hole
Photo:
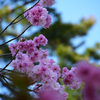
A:
{"label": "dark brownish-green blurred foliage in the bottom left corner", "polygon": [[0,93],[2,100],[34,100],[34,95],[30,95],[27,90],[30,81],[26,75],[7,71],[3,73],[5,75],[0,75],[0,82],[1,87],[6,87],[6,90],[4,94]]}

